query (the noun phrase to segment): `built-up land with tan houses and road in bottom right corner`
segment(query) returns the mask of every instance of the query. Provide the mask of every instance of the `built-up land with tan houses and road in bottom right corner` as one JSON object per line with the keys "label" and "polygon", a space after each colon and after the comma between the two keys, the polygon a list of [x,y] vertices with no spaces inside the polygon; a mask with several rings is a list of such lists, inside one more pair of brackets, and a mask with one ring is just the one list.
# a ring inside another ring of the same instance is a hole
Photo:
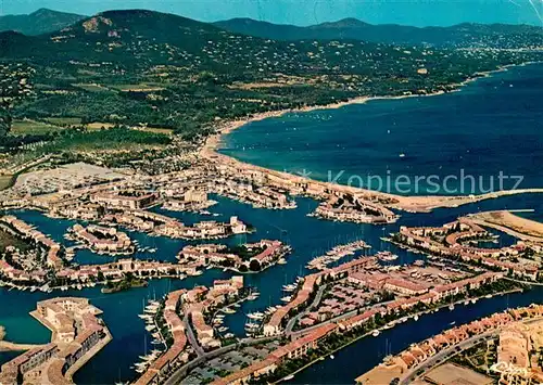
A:
{"label": "built-up land with tan houses and road in bottom right corner", "polygon": [[541,382],[542,316],[543,307],[533,304],[457,325],[387,357],[356,383],[424,385],[451,378],[477,384]]}

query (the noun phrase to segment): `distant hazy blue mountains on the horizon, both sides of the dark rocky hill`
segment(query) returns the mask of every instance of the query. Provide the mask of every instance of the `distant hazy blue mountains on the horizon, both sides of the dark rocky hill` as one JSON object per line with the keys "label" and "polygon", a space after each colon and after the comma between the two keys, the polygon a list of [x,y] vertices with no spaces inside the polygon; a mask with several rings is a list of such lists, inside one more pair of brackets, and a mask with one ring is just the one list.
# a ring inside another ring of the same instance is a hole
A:
{"label": "distant hazy blue mountains on the horizon, both sides of the dark rocky hill", "polygon": [[[162,15],[157,12],[153,14]],[[1,16],[0,31],[14,30],[23,35],[41,35],[61,30],[85,18],[87,16],[40,9],[28,15]],[[157,18],[159,22],[160,20],[161,17]],[[185,20],[188,21],[188,18]],[[167,33],[157,23],[154,25]],[[372,25],[356,18],[344,18],[306,27],[273,24],[252,18],[231,18],[212,23],[212,25],[230,33],[275,40],[363,40],[389,44],[422,43],[495,48],[543,44],[543,27],[531,25],[465,23],[450,27],[419,28],[396,24]]]}

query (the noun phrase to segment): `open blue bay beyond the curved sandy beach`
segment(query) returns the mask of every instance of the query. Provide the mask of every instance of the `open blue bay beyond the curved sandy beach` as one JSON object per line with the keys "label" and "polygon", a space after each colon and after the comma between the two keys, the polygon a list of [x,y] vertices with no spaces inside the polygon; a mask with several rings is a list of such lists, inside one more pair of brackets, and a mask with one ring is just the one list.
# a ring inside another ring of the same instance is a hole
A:
{"label": "open blue bay beyond the curved sandy beach", "polygon": [[220,152],[407,195],[512,189],[520,177],[518,188],[543,187],[542,95],[543,65],[515,67],[459,92],[254,121],[226,136]]}

